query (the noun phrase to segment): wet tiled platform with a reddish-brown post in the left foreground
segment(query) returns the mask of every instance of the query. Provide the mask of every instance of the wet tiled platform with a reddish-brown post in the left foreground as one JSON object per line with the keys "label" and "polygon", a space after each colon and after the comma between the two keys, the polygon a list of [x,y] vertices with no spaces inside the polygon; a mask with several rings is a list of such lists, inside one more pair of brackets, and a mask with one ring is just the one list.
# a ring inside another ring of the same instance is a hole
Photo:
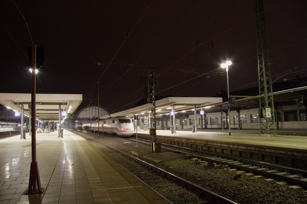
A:
{"label": "wet tiled platform with a reddish-brown post in the left foreground", "polygon": [[84,138],[64,130],[39,133],[37,163],[43,193],[29,186],[31,137],[0,139],[0,203],[168,203]]}

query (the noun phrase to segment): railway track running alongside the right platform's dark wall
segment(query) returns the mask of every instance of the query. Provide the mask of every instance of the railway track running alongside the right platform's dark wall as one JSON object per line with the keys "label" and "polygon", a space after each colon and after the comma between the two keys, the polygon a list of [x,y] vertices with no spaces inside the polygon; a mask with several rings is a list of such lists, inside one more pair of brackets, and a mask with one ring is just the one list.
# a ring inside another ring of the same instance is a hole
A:
{"label": "railway track running alongside the right platform's dark wall", "polygon": [[[135,141],[134,138],[130,140]],[[150,145],[151,141],[138,139],[139,142]],[[260,161],[254,161],[249,159],[237,158],[227,156],[223,154],[216,154],[212,152],[205,152],[201,150],[195,150],[187,147],[179,147],[175,145],[161,143],[161,149],[172,151],[178,154],[191,155],[193,158],[197,158],[200,161],[213,162],[220,165],[227,165],[235,169],[240,169],[246,172],[253,172],[259,175],[265,175],[266,177],[275,178],[278,180],[286,181],[293,185],[299,185],[307,187],[307,171],[302,169],[295,169],[291,167],[275,165]],[[196,164],[201,164],[197,160]]]}

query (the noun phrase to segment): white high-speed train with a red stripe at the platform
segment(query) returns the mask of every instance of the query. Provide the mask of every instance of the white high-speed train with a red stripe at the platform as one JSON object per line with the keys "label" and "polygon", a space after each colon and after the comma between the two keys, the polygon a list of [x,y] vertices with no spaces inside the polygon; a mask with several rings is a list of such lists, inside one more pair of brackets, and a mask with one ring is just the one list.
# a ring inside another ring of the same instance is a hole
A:
{"label": "white high-speed train with a red stripe at the platform", "polygon": [[[98,121],[84,123],[89,130],[98,132]],[[130,137],[134,134],[134,126],[130,117],[112,117],[99,120],[99,132],[121,137]]]}

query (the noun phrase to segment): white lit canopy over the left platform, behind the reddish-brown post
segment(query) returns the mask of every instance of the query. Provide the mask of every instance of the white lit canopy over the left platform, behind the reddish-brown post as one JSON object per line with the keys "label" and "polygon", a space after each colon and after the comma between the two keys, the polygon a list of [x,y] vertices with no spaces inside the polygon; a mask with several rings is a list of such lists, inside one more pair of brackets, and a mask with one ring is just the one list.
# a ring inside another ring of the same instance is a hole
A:
{"label": "white lit canopy over the left platform, behind the reddish-brown post", "polygon": [[[82,94],[36,94],[36,117],[45,121],[59,121],[60,110],[73,113],[81,102]],[[0,104],[20,112],[23,105],[24,115],[30,116],[31,94],[0,93]]]}

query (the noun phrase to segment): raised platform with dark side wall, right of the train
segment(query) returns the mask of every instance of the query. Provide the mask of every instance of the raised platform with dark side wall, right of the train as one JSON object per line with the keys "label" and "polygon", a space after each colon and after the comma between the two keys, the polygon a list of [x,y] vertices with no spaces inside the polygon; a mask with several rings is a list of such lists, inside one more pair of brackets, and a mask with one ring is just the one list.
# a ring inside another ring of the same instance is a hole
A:
{"label": "raised platform with dark side wall, right of the train", "polygon": [[[136,135],[136,132],[135,134]],[[139,138],[152,140],[149,131],[138,131]],[[297,169],[307,169],[307,137],[278,135],[263,137],[252,133],[189,132],[157,130],[157,142],[225,154]]]}

